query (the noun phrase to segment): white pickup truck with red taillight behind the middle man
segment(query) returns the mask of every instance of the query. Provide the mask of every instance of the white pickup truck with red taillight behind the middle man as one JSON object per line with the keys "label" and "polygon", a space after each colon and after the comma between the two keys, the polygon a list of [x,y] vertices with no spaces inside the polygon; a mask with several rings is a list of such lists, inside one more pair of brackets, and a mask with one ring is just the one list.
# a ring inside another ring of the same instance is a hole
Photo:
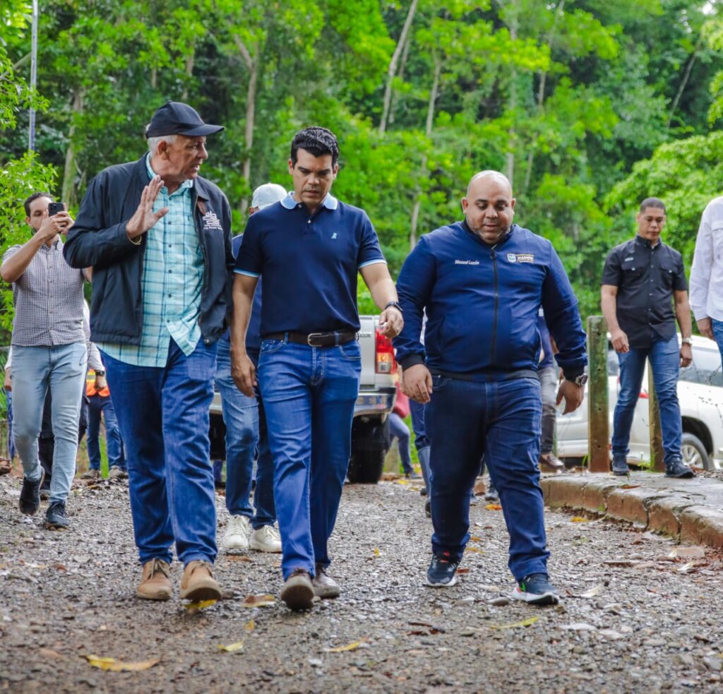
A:
{"label": "white pickup truck with red taillight behind the middle man", "polygon": [[[396,370],[391,340],[377,331],[378,316],[360,316],[361,381],[351,428],[348,478],[359,484],[376,484],[382,476],[389,449],[388,417],[396,399]],[[221,395],[216,391],[210,409],[212,460],[226,459],[226,427],[221,415]]]}

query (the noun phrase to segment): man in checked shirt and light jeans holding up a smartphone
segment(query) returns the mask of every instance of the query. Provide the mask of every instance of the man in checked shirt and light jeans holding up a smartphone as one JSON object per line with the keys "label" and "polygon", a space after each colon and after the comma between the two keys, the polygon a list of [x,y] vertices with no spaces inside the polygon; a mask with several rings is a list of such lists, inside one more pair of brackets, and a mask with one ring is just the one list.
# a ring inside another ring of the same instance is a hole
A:
{"label": "man in checked shirt and light jeans holding up a smartphone", "polygon": [[73,226],[65,206],[48,193],[35,193],[25,200],[25,215],[33,237],[7,249],[0,267],[0,276],[13,284],[15,307],[10,375],[13,432],[23,471],[20,510],[33,515],[40,507],[38,436],[43,402],[51,389],[55,451],[45,526],[60,530],[69,525],[65,503],[75,475],[87,366],[85,275],[63,257],[61,235]]}

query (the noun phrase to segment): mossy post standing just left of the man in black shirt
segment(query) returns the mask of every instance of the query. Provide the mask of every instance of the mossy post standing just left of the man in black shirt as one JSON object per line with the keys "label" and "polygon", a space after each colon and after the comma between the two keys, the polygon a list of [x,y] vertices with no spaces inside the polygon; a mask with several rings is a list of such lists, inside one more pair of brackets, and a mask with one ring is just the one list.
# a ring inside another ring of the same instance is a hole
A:
{"label": "mossy post standing just left of the man in black shirt", "polygon": [[607,405],[607,321],[590,316],[588,333],[588,468],[610,471],[610,433]]}

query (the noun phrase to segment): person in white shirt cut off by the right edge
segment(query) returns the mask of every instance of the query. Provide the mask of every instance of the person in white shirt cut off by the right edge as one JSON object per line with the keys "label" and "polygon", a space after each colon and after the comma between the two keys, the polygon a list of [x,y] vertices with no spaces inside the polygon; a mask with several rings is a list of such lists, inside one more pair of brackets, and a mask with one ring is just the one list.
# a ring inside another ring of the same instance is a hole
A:
{"label": "person in white shirt cut off by the right edge", "polygon": [[703,210],[690,268],[690,308],[701,335],[715,340],[723,355],[723,197]]}

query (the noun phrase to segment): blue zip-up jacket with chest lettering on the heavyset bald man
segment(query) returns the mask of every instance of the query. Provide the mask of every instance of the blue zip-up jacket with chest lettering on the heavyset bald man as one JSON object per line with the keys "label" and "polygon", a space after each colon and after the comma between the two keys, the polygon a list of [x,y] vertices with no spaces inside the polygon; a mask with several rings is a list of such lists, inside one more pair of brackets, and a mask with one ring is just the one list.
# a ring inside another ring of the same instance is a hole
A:
{"label": "blue zip-up jacket with chest lettering on the heavyset bald man", "polygon": [[565,377],[577,377],[587,364],[578,301],[560,258],[549,241],[516,224],[494,247],[466,222],[422,236],[397,291],[404,329],[394,346],[403,369],[426,363],[433,373],[466,380],[534,376],[540,306]]}

